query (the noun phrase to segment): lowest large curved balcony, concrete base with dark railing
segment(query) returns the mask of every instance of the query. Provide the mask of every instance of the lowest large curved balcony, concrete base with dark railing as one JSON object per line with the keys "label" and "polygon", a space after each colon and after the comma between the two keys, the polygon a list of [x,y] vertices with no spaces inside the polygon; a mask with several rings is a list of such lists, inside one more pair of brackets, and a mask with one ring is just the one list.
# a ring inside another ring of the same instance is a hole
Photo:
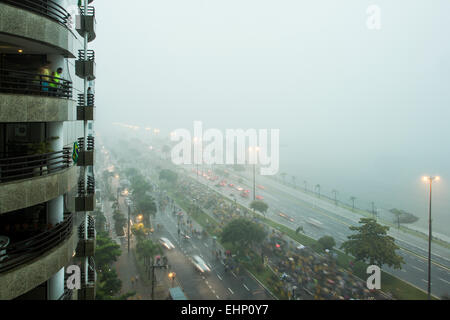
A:
{"label": "lowest large curved balcony, concrete base with dark railing", "polygon": [[0,300],[18,297],[50,279],[72,259],[76,233],[73,215],[32,238],[0,252]]}

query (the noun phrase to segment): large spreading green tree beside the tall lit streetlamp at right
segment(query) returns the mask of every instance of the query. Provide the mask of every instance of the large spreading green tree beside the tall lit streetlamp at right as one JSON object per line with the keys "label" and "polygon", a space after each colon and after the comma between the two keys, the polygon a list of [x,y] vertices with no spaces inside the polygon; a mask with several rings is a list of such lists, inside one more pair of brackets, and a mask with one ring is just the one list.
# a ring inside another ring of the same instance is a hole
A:
{"label": "large spreading green tree beside the tall lit streetlamp at right", "polygon": [[357,233],[348,236],[341,248],[345,253],[352,254],[356,260],[381,267],[386,264],[395,269],[401,269],[403,258],[396,254],[399,247],[395,239],[387,235],[389,227],[382,226],[374,219],[361,218],[361,226],[351,226],[350,230]]}

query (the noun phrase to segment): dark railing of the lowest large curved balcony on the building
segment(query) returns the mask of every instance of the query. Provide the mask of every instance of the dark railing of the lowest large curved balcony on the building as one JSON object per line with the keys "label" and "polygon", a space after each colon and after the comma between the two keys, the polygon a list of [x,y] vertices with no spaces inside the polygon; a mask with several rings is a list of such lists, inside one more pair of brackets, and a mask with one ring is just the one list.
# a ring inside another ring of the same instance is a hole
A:
{"label": "dark railing of the lowest large curved balcony on the building", "polygon": [[73,216],[65,214],[64,221],[37,236],[12,243],[0,251],[0,273],[14,269],[40,257],[72,235]]}

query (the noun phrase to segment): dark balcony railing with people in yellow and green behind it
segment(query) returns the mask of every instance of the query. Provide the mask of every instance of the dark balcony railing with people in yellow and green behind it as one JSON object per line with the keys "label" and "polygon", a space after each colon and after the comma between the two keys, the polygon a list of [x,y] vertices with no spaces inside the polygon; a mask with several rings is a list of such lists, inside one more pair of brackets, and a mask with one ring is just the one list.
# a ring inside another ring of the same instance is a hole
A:
{"label": "dark balcony railing with people in yellow and green behind it", "polygon": [[0,69],[0,92],[71,99],[72,82],[49,75]]}

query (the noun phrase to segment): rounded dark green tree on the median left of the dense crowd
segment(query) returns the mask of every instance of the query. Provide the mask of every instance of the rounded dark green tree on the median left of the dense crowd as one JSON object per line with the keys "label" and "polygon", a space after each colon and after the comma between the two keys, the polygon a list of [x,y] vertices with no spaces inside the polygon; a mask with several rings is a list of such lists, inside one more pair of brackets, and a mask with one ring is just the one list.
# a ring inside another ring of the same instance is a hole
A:
{"label": "rounded dark green tree on the median left of the dense crowd", "polygon": [[250,245],[262,243],[266,237],[264,229],[245,218],[229,222],[222,230],[222,241],[245,248]]}

